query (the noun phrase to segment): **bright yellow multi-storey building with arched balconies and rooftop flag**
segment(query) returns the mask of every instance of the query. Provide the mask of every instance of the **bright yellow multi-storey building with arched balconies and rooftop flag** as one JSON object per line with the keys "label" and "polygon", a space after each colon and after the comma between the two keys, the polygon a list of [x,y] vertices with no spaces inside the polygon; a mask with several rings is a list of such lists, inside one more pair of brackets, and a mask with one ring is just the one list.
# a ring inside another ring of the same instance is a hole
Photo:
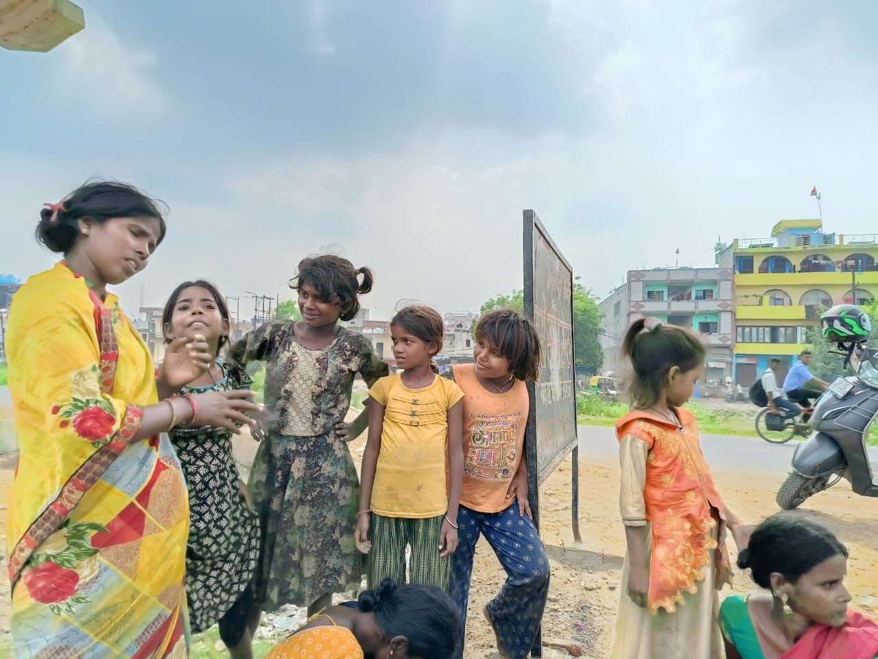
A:
{"label": "bright yellow multi-storey building with arched balconies and rooftop flag", "polygon": [[749,385],[768,359],[790,366],[824,308],[878,294],[878,235],[825,234],[819,220],[785,220],[769,238],[733,241],[717,264],[734,267],[734,378]]}

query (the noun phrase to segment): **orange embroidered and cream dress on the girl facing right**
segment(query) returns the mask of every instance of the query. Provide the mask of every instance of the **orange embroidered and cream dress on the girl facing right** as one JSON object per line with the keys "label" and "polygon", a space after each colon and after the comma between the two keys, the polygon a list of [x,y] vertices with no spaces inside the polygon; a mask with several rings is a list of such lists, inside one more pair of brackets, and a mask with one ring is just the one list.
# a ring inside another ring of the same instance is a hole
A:
{"label": "orange embroidered and cream dress on the girl facing right", "polygon": [[623,568],[610,659],[721,659],[717,590],[730,582],[725,509],[698,441],[694,416],[681,427],[632,411],[616,423],[623,524],[649,529],[647,607],[628,595]]}

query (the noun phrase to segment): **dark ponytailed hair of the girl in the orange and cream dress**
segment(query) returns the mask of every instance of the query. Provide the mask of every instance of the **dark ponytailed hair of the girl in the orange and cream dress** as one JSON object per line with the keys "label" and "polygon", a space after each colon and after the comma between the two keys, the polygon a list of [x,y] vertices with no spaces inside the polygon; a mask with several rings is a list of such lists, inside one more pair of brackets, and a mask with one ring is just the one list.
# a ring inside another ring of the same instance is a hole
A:
{"label": "dark ponytailed hair of the girl in the orange and cream dress", "polygon": [[634,377],[630,391],[637,406],[651,408],[667,384],[667,373],[677,366],[686,373],[704,363],[704,344],[688,329],[666,325],[658,318],[632,322],[622,344]]}

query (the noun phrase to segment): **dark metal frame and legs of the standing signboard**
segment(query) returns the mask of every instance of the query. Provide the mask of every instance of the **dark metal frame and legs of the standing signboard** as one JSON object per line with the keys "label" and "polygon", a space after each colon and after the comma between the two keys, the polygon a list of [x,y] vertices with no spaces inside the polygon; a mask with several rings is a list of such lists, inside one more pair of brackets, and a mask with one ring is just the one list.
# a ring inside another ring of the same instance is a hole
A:
{"label": "dark metal frame and legs of the standing signboard", "polygon": [[[530,398],[530,410],[528,415],[528,424],[524,434],[525,455],[528,460],[528,498],[530,500],[530,511],[534,516],[534,524],[537,530],[540,527],[540,484],[558,467],[561,460],[564,460],[568,453],[572,454],[572,527],[573,539],[581,542],[582,538],[579,533],[579,438],[576,431],[576,378],[575,378],[575,353],[573,347],[573,337],[575,334],[572,330],[573,322],[573,268],[567,261],[561,250],[551,239],[551,236],[543,227],[543,223],[532,210],[525,210],[524,213],[524,313],[532,322],[536,324],[536,301],[534,299],[534,268],[535,268],[535,250],[537,241],[542,238],[558,257],[558,262],[562,264],[566,271],[570,273],[570,319],[571,319],[571,364],[573,369],[573,377],[570,383],[572,390],[573,405],[570,414],[573,420],[573,437],[569,438],[566,445],[562,446],[558,455],[552,456],[551,460],[546,463],[543,468],[539,464],[539,451],[536,441],[536,419],[540,414],[540,410],[536,405],[536,385],[533,382],[528,383],[528,393]],[[540,337],[545,342],[545,337]],[[534,647],[531,648],[532,656],[543,656],[542,631],[537,634]]]}

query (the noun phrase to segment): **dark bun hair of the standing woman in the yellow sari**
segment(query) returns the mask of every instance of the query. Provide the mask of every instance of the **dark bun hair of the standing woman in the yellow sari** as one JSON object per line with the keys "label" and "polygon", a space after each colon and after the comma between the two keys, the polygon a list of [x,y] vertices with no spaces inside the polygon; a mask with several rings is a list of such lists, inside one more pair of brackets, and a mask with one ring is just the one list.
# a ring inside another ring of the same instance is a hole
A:
{"label": "dark bun hair of the standing woman in the yellow sari", "polygon": [[48,250],[61,254],[68,254],[79,239],[79,220],[103,223],[119,217],[154,217],[159,222],[159,243],[167,230],[159,209],[162,202],[119,181],[90,181],[58,204],[46,206],[51,207],[40,211],[36,238]]}

